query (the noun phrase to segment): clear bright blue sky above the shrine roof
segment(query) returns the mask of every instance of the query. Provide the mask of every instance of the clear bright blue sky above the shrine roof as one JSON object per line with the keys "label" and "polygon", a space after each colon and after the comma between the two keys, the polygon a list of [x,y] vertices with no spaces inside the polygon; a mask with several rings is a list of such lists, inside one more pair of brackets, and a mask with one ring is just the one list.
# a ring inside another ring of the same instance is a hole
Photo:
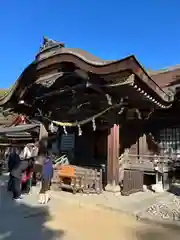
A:
{"label": "clear bright blue sky above the shrine roof", "polygon": [[0,87],[33,60],[42,36],[104,59],[135,54],[151,69],[180,63],[179,0],[1,0]]}

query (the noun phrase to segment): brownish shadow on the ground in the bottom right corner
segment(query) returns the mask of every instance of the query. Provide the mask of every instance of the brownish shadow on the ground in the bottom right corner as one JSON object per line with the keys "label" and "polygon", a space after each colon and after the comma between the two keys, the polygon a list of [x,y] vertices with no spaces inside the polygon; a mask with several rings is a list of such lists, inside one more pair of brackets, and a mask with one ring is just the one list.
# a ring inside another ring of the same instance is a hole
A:
{"label": "brownish shadow on the ground in the bottom right corner", "polygon": [[138,240],[179,240],[180,225],[170,223],[149,224],[136,231]]}

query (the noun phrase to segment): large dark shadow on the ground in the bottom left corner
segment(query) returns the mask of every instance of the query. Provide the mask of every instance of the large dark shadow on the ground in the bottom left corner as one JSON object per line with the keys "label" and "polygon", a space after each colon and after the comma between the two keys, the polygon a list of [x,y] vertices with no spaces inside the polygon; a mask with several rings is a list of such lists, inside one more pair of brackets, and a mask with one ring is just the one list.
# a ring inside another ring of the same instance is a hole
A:
{"label": "large dark shadow on the ground in the bottom left corner", "polygon": [[6,191],[1,178],[0,240],[54,240],[62,239],[64,231],[49,229],[51,220],[48,207],[16,203]]}

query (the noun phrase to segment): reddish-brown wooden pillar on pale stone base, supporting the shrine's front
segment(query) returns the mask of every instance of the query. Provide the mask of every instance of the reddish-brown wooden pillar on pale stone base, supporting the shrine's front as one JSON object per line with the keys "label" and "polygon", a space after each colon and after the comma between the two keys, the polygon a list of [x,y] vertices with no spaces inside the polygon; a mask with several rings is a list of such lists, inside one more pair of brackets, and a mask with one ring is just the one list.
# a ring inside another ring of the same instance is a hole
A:
{"label": "reddish-brown wooden pillar on pale stone base, supporting the shrine's front", "polygon": [[110,129],[107,143],[107,186],[106,191],[119,192],[119,125]]}

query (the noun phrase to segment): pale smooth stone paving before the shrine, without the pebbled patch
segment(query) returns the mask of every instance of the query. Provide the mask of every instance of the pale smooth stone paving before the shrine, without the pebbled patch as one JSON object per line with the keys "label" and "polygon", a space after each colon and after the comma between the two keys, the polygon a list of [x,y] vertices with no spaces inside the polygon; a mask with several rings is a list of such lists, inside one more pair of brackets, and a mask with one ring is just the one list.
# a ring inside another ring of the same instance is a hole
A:
{"label": "pale smooth stone paving before the shrine, without the pebbled patch", "polygon": [[155,204],[161,199],[168,197],[169,193],[154,193],[152,191],[147,191],[138,192],[130,196],[121,196],[109,192],[104,192],[100,195],[85,195],[78,193],[73,195],[70,192],[53,191],[52,196],[53,198],[59,198],[62,200],[64,199],[65,201],[68,201],[72,204],[88,207],[100,207],[112,211],[130,214],[136,217],[147,207]]}

